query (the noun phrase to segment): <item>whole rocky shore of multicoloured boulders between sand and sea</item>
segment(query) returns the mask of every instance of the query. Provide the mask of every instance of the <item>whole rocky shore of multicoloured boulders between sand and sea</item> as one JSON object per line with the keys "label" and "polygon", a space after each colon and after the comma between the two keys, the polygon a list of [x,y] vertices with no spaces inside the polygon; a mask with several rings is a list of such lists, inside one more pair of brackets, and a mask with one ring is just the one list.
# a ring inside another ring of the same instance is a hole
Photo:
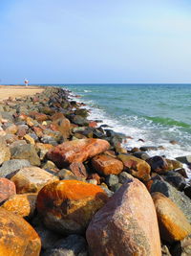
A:
{"label": "whole rocky shore of multicoloured boulders between sand and sea", "polygon": [[0,103],[0,255],[191,255],[191,156],[127,151],[70,96]]}

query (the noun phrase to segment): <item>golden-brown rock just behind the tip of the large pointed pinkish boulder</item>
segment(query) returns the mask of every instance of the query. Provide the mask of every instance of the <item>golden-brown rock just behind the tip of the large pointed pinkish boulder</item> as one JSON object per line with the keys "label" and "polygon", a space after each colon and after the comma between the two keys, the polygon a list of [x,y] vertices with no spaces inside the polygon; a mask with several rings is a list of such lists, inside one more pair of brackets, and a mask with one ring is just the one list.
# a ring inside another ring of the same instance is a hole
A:
{"label": "golden-brown rock just behind the tip of the large pointed pinkish boulder", "polygon": [[131,175],[145,181],[150,178],[151,167],[144,160],[130,154],[119,154],[118,158],[123,162],[124,166],[131,173]]}

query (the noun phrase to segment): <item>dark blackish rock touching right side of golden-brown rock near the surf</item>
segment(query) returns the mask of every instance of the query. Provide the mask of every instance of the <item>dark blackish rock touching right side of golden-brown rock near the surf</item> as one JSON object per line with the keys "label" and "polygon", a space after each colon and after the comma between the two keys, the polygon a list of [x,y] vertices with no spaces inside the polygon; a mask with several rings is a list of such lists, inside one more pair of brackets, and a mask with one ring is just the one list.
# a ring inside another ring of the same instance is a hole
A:
{"label": "dark blackish rock touching right side of golden-brown rock near the surf", "polygon": [[146,162],[151,166],[152,172],[157,174],[164,174],[168,169],[168,163],[159,155],[155,155],[146,159]]}

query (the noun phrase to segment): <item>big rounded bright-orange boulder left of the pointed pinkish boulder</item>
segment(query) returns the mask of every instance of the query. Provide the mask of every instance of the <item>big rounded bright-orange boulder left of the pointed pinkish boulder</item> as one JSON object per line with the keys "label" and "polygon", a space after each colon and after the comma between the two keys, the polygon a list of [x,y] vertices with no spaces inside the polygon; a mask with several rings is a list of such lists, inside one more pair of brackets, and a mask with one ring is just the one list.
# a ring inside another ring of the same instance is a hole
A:
{"label": "big rounded bright-orange boulder left of the pointed pinkish boulder", "polygon": [[106,194],[96,185],[60,180],[41,189],[37,210],[48,228],[63,234],[83,233],[106,200]]}

